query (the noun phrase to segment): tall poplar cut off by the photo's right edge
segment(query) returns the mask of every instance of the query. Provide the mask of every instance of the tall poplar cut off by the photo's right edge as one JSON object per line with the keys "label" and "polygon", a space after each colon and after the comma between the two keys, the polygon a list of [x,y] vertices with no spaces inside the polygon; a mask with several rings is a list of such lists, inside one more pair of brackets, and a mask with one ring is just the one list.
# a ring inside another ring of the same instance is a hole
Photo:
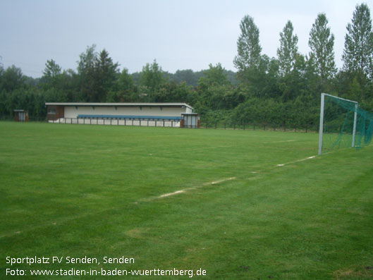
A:
{"label": "tall poplar cut off by the photo's right edge", "polygon": [[357,5],[352,23],[347,25],[343,70],[370,75],[372,78],[373,32],[367,4]]}

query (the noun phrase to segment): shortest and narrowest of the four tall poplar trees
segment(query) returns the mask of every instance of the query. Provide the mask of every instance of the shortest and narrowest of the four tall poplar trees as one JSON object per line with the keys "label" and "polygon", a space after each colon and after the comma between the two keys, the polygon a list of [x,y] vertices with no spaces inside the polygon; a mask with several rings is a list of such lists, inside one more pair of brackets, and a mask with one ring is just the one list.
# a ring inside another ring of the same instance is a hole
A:
{"label": "shortest and narrowest of the four tall poplar trees", "polygon": [[295,64],[295,56],[298,54],[298,36],[293,35],[293,24],[290,20],[280,32],[280,47],[277,49],[279,57],[280,73],[291,73]]}

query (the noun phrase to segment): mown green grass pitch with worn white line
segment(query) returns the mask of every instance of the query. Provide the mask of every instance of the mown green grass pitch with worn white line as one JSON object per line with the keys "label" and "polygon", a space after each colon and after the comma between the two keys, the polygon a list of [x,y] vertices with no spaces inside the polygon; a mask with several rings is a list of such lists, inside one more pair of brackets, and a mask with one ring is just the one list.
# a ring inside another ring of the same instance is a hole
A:
{"label": "mown green grass pitch with worn white line", "polygon": [[[53,279],[30,269],[72,268],[372,278],[373,147],[312,157],[317,137],[0,122],[0,278],[24,269],[18,278]],[[35,256],[100,263],[6,263]],[[79,278],[99,276],[63,279]]]}

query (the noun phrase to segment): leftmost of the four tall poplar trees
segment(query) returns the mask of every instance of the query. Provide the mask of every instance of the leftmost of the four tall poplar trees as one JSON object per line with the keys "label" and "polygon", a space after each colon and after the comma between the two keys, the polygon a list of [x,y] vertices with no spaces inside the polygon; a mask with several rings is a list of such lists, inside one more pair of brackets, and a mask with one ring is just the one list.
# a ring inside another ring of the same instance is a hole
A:
{"label": "leftmost of the four tall poplar trees", "polygon": [[241,35],[237,41],[238,54],[233,63],[239,73],[255,69],[261,60],[262,47],[259,44],[259,29],[251,16],[244,16],[240,23]]}

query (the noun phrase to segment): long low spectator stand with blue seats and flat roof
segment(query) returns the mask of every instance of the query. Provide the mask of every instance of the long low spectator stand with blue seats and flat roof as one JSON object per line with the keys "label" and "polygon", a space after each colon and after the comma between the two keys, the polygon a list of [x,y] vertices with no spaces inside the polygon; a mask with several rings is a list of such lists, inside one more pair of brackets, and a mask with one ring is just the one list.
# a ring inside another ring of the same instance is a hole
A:
{"label": "long low spectator stand with blue seats and flat roof", "polygon": [[50,123],[180,127],[181,120],[185,118],[182,114],[193,113],[192,106],[185,103],[49,102],[45,105]]}

